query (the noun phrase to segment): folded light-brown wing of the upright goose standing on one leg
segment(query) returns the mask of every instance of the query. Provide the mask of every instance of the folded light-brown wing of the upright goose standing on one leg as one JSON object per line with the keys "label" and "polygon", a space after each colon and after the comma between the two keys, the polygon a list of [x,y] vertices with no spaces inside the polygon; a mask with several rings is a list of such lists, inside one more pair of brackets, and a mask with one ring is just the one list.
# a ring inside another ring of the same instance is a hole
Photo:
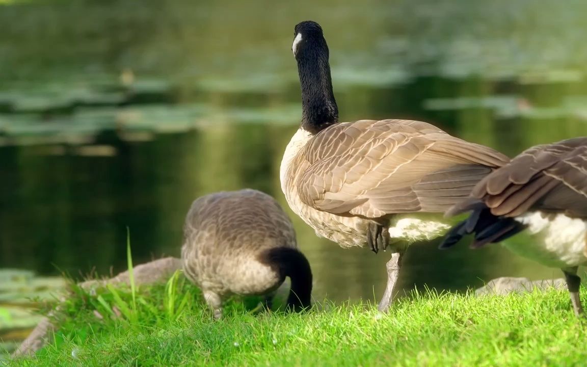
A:
{"label": "folded light-brown wing of the upright goose standing on one leg", "polygon": [[369,218],[444,212],[509,161],[493,149],[410,120],[340,123],[317,134],[302,154],[303,203]]}

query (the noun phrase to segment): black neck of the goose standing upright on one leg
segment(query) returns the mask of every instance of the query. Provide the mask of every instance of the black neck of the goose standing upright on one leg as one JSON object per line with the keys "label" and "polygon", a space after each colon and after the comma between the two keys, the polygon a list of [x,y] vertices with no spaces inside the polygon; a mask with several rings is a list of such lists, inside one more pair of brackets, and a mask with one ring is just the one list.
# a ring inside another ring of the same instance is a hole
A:
{"label": "black neck of the goose standing upright on one leg", "polygon": [[296,60],[302,87],[302,127],[315,134],[338,122],[326,41],[308,40]]}

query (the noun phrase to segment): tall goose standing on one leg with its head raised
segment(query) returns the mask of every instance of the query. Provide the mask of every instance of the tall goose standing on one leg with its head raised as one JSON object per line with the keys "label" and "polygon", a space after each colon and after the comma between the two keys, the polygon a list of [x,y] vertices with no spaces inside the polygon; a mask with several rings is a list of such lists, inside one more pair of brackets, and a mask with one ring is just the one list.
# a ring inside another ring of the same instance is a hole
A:
{"label": "tall goose standing on one leg with its head raised", "polygon": [[407,245],[448,229],[440,218],[474,185],[509,161],[497,151],[410,120],[338,123],[322,28],[295,26],[292,51],[302,90],[302,122],[285,149],[281,188],[316,234],[341,247],[393,250],[379,309],[393,288]]}

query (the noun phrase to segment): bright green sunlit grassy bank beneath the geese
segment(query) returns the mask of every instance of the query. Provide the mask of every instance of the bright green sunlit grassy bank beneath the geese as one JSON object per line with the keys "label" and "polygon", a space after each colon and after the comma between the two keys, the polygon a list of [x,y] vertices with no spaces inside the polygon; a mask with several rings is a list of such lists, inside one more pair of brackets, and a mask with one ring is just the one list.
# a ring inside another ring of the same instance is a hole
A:
{"label": "bright green sunlit grassy bank beneath the geese", "polygon": [[[582,365],[587,323],[566,291],[507,297],[427,292],[373,305],[319,303],[306,314],[231,302],[212,321],[178,275],[145,289],[75,288],[38,356],[8,366],[516,366]],[[585,289],[582,289],[585,295]],[[583,302],[587,299],[583,297]]]}

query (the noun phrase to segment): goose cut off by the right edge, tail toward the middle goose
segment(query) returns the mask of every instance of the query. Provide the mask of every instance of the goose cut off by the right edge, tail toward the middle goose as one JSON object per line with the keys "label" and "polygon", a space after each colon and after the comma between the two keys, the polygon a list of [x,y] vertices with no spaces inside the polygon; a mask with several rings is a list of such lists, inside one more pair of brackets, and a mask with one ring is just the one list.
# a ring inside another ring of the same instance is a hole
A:
{"label": "goose cut off by the right edge, tail toward the middle goose", "polygon": [[583,314],[577,268],[587,265],[587,137],[523,151],[481,180],[446,216],[467,211],[470,216],[448,231],[441,248],[451,247],[466,234],[474,234],[471,247],[478,248],[526,230],[535,241],[503,245],[560,268],[573,310]]}

